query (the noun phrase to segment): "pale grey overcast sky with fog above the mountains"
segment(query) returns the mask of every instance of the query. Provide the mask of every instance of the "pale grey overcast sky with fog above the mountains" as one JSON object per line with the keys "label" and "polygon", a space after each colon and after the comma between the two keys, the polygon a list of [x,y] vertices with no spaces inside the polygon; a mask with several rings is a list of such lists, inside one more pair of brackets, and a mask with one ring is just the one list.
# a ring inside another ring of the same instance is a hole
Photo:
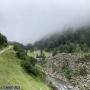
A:
{"label": "pale grey overcast sky with fog above the mountains", "polygon": [[32,43],[66,26],[89,23],[90,0],[0,0],[0,32]]}

